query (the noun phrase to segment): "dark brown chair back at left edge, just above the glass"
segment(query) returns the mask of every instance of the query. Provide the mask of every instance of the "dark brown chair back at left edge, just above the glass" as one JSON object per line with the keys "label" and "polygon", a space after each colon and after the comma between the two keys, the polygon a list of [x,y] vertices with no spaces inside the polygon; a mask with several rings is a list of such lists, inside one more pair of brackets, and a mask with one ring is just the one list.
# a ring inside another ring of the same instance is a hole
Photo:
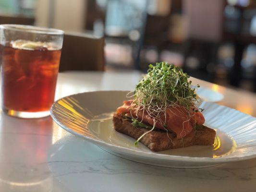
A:
{"label": "dark brown chair back at left edge, just above the glass", "polygon": [[26,24],[34,25],[35,18],[23,16],[0,15],[0,24]]}

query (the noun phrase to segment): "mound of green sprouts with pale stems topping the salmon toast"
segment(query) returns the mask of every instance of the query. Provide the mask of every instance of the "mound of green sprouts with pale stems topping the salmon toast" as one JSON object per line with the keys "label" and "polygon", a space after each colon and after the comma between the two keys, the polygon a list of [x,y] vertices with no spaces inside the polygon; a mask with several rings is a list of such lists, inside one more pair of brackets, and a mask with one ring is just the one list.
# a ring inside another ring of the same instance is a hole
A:
{"label": "mound of green sprouts with pale stems topping the salmon toast", "polygon": [[[200,103],[200,98],[195,94],[195,89],[191,88],[192,82],[188,81],[189,77],[187,73],[173,64],[160,62],[155,66],[149,65],[147,74],[134,90],[134,103],[137,106],[135,112],[143,110],[154,120],[154,125],[149,128],[152,129],[148,132],[154,130],[157,121],[166,128],[166,122],[160,116],[165,115],[166,117],[167,108],[182,107],[189,111],[202,110],[196,107]],[[189,113],[188,116],[190,116]],[[143,127],[140,123],[138,120],[133,120],[132,124]],[[134,145],[148,132],[141,135]]]}

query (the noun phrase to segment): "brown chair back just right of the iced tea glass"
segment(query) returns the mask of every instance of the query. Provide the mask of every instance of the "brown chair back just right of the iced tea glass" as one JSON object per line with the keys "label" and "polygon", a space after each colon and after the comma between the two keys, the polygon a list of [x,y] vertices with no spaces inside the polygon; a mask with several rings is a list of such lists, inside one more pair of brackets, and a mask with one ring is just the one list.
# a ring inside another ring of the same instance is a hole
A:
{"label": "brown chair back just right of the iced tea glass", "polygon": [[65,33],[61,71],[104,71],[104,38],[86,33]]}

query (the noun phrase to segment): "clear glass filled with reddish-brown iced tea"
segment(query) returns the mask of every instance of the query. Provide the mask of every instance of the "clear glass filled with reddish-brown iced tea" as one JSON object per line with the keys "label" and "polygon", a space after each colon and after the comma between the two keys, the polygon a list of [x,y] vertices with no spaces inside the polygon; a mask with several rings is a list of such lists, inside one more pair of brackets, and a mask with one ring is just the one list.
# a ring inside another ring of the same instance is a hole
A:
{"label": "clear glass filled with reddish-brown iced tea", "polygon": [[21,118],[49,115],[54,101],[63,31],[0,25],[2,110]]}

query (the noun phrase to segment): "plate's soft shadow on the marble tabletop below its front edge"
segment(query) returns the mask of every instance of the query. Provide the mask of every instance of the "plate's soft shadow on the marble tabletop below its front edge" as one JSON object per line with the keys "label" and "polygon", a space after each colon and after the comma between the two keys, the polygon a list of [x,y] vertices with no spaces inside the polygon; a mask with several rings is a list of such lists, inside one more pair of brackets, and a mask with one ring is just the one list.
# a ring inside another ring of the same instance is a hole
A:
{"label": "plate's soft shadow on the marble tabletop below its front edge", "polygon": [[[256,180],[256,159],[242,161],[240,163],[222,164],[212,168],[163,168],[136,163],[121,157],[116,157],[101,150],[93,144],[80,140],[77,141],[75,137],[73,138],[73,136],[70,137],[67,138],[69,144],[65,145],[65,142],[62,141],[61,145],[64,146],[60,151],[56,152],[48,162],[49,168],[53,171],[55,177],[61,177],[70,174],[97,173],[106,175],[139,174],[168,178],[194,177],[201,180]],[[76,151],[71,150],[71,148],[83,150]],[[66,152],[71,154],[63,156],[62,153]],[[59,156],[61,156],[61,159],[65,157],[65,160],[59,161]],[[72,156],[72,158],[75,157],[75,159],[78,161],[69,160],[70,156]],[[97,158],[97,156],[106,157]],[[246,167],[248,162],[250,162],[250,166]],[[63,167],[68,167],[68,169],[62,169]]]}

